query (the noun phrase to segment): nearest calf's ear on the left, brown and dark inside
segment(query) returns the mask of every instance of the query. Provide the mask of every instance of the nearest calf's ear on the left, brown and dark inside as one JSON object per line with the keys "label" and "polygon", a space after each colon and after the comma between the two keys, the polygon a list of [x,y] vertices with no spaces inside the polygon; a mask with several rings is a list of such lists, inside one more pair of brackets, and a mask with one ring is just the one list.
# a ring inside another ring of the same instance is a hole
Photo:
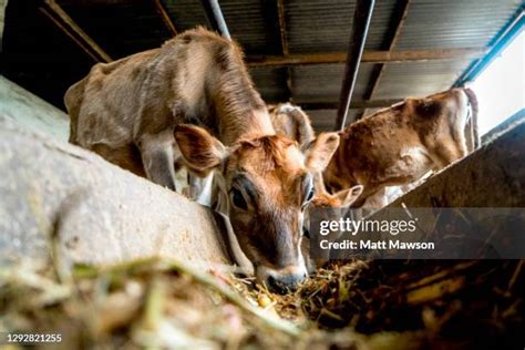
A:
{"label": "nearest calf's ear on the left, brown and dark inside", "polygon": [[175,126],[174,136],[185,164],[197,175],[207,175],[228,156],[220,141],[202,127],[179,124]]}

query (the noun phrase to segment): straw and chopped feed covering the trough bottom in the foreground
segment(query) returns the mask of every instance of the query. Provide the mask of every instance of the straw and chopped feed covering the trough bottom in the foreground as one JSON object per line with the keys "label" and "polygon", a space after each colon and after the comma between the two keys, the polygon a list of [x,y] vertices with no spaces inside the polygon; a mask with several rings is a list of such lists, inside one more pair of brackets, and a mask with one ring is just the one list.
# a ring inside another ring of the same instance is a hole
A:
{"label": "straw and chopped feed covering the trough bottom in the foreground", "polygon": [[523,265],[340,261],[285,296],[157,259],[24,265],[0,269],[0,332],[61,333],[45,346],[61,349],[523,349]]}

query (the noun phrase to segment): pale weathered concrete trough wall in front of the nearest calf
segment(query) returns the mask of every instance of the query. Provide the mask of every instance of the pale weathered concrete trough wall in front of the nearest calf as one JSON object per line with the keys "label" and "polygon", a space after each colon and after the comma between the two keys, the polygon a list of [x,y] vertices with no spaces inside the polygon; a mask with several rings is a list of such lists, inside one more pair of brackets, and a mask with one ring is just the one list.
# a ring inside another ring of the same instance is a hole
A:
{"label": "pale weathered concrete trough wall in front of the nearest calf", "polygon": [[[0,117],[0,261],[229,264],[212,213],[79,147]],[[56,237],[51,240],[50,237]]]}

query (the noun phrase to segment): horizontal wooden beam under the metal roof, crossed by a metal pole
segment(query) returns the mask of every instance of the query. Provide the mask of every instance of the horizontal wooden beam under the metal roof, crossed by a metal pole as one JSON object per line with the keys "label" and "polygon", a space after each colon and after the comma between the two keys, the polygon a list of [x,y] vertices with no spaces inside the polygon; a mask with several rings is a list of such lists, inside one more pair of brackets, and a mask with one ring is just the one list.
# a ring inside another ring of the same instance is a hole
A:
{"label": "horizontal wooden beam under the metal roof, crossed by a metal pole", "polygon": [[[404,51],[364,51],[361,63],[401,63],[434,60],[472,60],[487,52],[485,48],[404,50]],[[326,52],[284,55],[249,55],[249,66],[286,66],[325,63],[344,63],[347,53]]]}

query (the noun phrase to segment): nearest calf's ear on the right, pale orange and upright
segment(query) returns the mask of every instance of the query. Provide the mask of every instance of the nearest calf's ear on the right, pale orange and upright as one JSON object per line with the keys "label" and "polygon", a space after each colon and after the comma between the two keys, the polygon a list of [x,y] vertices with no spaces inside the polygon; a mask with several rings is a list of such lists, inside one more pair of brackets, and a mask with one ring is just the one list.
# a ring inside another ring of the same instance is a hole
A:
{"label": "nearest calf's ear on the right, pale orange and upright", "polygon": [[337,133],[321,133],[305,148],[305,165],[310,172],[322,172],[339,146]]}

